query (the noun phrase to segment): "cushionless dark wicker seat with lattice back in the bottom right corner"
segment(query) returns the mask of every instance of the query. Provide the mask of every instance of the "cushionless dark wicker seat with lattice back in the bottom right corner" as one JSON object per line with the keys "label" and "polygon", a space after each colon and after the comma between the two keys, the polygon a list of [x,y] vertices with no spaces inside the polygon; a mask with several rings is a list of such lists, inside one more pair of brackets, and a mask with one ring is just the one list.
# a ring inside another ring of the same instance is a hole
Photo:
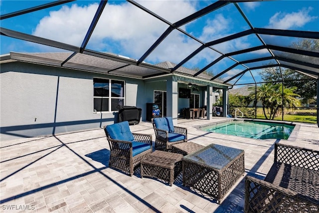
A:
{"label": "cushionless dark wicker seat with lattice back in the bottom right corner", "polygon": [[275,144],[265,180],[245,185],[245,213],[319,213],[319,151]]}

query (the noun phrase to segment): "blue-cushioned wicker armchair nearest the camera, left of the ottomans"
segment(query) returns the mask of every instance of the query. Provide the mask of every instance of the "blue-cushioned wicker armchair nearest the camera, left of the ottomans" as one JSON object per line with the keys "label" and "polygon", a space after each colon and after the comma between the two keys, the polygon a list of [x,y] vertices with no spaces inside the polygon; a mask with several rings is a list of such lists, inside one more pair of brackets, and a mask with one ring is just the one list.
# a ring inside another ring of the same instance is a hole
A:
{"label": "blue-cushioned wicker armchair nearest the camera, left of the ottomans", "polygon": [[152,153],[152,135],[132,133],[128,121],[104,126],[110,145],[109,167],[133,175],[142,158]]}

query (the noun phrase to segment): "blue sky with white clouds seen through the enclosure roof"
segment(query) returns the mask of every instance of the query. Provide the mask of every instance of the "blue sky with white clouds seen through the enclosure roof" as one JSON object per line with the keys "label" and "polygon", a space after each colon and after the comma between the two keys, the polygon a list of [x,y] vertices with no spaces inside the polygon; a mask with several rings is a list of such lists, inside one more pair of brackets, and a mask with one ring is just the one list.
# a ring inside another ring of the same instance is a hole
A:
{"label": "blue sky with white clouds seen through the enclosure roof", "polygon": [[[47,2],[50,1],[0,0],[0,12],[2,15]],[[173,23],[214,1],[142,0],[137,2]],[[49,9],[1,20],[1,27],[80,46],[98,4],[99,1],[96,0],[73,1]],[[241,2],[238,5],[254,27],[319,31],[319,0]],[[167,27],[167,24],[138,9],[131,3],[120,0],[108,1],[87,48],[139,59]],[[228,4],[183,25],[181,28],[203,42],[209,42],[249,29],[249,26],[234,4]],[[65,51],[2,35],[0,39],[0,54],[9,53],[10,51]],[[264,36],[263,39],[276,44],[276,40],[271,36]],[[289,46],[296,40],[287,38],[284,41],[281,40],[279,45]],[[250,35],[218,44],[213,46],[213,48],[227,53],[260,44],[256,36]],[[153,64],[162,61],[179,63],[199,46],[200,43],[177,30],[173,30],[145,61]],[[260,52],[259,54],[264,53]],[[188,68],[203,68],[219,56],[219,53],[206,48],[184,66]],[[243,57],[247,58],[248,56],[245,55]],[[218,64],[218,69],[215,68],[215,70],[210,71],[216,74],[218,70],[224,67],[227,68],[232,63],[233,61],[231,60],[222,61]],[[232,73],[238,73],[242,69],[236,68],[232,70]],[[227,76],[223,77],[227,78]]]}

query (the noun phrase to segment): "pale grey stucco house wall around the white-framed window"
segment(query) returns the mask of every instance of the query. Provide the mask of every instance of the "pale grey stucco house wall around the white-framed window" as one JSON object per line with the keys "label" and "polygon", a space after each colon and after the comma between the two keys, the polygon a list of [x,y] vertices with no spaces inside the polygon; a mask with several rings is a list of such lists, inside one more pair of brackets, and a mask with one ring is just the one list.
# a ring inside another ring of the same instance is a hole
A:
{"label": "pale grey stucco house wall around the white-framed window", "polygon": [[142,80],[23,62],[2,63],[1,141],[100,128],[116,122],[116,112],[93,112],[93,77],[125,80],[126,105],[146,111]]}

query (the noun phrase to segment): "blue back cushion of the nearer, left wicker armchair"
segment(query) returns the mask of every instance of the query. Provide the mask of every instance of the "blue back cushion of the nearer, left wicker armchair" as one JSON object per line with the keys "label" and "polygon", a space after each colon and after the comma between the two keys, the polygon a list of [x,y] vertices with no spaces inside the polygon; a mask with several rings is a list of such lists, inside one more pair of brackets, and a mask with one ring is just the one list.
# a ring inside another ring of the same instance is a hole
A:
{"label": "blue back cushion of the nearer, left wicker armchair", "polygon": [[134,136],[130,130],[129,122],[123,121],[106,126],[110,138],[121,141],[134,141]]}

